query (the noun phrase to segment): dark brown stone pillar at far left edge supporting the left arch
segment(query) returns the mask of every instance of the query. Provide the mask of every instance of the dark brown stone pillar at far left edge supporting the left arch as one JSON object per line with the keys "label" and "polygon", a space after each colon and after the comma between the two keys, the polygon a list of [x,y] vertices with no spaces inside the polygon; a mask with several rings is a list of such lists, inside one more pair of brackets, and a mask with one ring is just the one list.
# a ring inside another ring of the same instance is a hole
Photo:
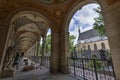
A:
{"label": "dark brown stone pillar at far left edge supporting the left arch", "polygon": [[[8,40],[10,37],[10,33],[12,31],[12,29],[9,29],[9,26],[10,25],[6,25],[6,23],[0,22],[0,76],[2,76],[1,72],[2,72],[3,61],[6,53],[6,48],[8,47]],[[2,73],[2,74],[6,74],[6,73]],[[8,72],[7,74],[6,74],[7,76],[10,76]]]}

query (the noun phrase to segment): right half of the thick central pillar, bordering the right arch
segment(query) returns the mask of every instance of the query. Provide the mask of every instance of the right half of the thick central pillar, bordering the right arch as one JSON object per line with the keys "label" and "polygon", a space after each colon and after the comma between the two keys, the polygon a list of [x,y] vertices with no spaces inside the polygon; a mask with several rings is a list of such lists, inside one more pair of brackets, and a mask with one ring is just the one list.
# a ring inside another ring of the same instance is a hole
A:
{"label": "right half of the thick central pillar, bordering the right arch", "polygon": [[60,35],[60,72],[68,73],[69,32]]}

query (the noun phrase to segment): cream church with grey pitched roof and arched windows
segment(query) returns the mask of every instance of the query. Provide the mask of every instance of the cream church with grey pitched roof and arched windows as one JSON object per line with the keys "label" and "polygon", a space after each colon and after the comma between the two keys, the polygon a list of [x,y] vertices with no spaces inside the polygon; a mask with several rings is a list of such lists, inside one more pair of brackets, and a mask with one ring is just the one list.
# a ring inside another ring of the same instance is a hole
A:
{"label": "cream church with grey pitched roof and arched windows", "polygon": [[82,33],[79,29],[79,36],[76,44],[78,57],[92,58],[92,56],[95,55],[96,58],[100,59],[101,49],[105,50],[106,57],[110,57],[110,47],[107,36],[100,36],[95,29]]}

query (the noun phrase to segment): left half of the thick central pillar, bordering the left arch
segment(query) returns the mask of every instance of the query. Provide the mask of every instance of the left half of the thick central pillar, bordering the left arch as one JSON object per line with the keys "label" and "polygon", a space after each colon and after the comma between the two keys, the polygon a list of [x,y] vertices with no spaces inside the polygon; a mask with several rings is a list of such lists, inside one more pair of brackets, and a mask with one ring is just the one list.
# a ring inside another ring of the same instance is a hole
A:
{"label": "left half of the thick central pillar, bordering the left arch", "polygon": [[51,33],[51,56],[50,56],[50,72],[59,71],[59,34]]}

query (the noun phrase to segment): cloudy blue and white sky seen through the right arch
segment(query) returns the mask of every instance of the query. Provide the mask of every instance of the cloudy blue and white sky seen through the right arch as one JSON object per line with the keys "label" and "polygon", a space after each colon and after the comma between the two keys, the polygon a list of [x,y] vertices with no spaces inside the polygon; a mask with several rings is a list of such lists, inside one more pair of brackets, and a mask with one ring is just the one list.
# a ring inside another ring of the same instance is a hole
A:
{"label": "cloudy blue and white sky seen through the right arch", "polygon": [[93,9],[98,6],[98,4],[88,4],[73,15],[69,24],[69,32],[71,35],[76,36],[74,44],[77,43],[78,39],[78,27],[80,27],[81,32],[93,28],[93,24],[95,22],[94,18],[98,17],[98,13],[96,13]]}

